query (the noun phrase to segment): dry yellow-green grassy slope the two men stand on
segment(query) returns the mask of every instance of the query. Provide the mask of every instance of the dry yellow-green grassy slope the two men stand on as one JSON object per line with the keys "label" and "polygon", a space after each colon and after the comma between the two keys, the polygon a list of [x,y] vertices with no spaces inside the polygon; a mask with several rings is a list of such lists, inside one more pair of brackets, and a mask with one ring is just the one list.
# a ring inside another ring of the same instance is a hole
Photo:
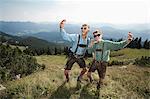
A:
{"label": "dry yellow-green grassy slope the two men stand on", "polygon": [[[125,49],[113,54],[123,53],[116,56],[116,59],[131,59],[149,54],[147,50]],[[131,53],[131,54],[129,54]],[[84,76],[82,83],[76,79],[80,72],[77,64],[71,71],[71,80],[64,83],[63,67],[66,62],[65,56],[38,56],[40,64],[45,64],[46,69],[34,73],[20,80],[4,83],[13,98],[64,98],[64,99],[93,99],[105,98],[148,98],[150,97],[150,68],[127,65],[124,67],[112,66],[107,68],[104,86],[96,90],[96,81],[93,84],[87,82]],[[98,80],[97,73],[93,73],[95,80]],[[10,95],[11,96],[11,95]]]}

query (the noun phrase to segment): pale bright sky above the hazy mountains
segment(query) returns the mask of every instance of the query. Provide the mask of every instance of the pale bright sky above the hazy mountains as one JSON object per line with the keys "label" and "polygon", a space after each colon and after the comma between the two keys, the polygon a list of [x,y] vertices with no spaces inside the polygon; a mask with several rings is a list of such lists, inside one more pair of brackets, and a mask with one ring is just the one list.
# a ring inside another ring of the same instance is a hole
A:
{"label": "pale bright sky above the hazy mountains", "polygon": [[149,0],[0,0],[1,21],[150,23]]}

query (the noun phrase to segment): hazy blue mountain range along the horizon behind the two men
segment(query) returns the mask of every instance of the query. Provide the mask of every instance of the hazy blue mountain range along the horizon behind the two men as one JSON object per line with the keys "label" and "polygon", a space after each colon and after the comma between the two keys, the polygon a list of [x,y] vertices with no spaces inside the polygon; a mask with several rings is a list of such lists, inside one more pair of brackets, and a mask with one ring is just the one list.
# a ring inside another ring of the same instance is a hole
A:
{"label": "hazy blue mountain range along the horizon behind the two men", "polygon": [[[66,24],[68,33],[80,33],[82,24]],[[142,37],[142,40],[150,39],[150,24],[114,25],[108,23],[91,23],[89,36],[95,29],[102,29],[104,38],[126,38],[130,31],[134,37]],[[15,36],[33,36],[49,42],[64,42],[58,23],[34,23],[34,22],[6,22],[0,21],[0,31]]]}

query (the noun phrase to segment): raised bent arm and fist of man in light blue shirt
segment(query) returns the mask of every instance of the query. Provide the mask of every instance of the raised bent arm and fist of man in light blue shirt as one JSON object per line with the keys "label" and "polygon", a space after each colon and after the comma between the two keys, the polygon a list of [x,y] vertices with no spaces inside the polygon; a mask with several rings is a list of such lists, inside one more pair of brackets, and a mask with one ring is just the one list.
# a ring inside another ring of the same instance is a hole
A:
{"label": "raised bent arm and fist of man in light blue shirt", "polygon": [[66,33],[66,31],[64,29],[65,22],[66,22],[66,20],[62,20],[60,22],[60,33],[61,33],[61,36],[63,37],[64,40],[69,41],[69,42],[73,42],[73,41],[75,41],[77,39],[77,34]]}

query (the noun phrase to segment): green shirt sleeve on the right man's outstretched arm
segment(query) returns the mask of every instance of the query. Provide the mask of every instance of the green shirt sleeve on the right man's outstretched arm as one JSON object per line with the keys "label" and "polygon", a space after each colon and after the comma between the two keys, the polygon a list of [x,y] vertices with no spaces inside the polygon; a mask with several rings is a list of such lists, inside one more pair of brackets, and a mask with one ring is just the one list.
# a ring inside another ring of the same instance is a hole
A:
{"label": "green shirt sleeve on the right man's outstretched arm", "polygon": [[119,50],[124,48],[127,45],[127,41],[113,42],[113,41],[105,41],[107,50]]}

